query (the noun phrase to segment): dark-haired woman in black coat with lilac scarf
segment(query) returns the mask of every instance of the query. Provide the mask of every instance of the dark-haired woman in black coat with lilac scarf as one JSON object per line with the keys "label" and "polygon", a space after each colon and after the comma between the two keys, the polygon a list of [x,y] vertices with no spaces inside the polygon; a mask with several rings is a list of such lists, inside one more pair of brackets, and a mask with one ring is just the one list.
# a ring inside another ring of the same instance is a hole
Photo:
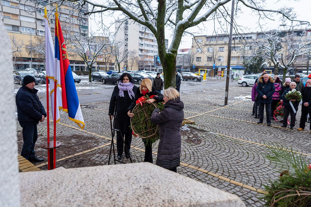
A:
{"label": "dark-haired woman in black coat with lilac scarf", "polygon": [[135,91],[137,86],[134,86],[134,81],[129,73],[123,73],[117,81],[118,86],[114,87],[109,103],[109,117],[115,119],[115,129],[117,131],[117,151],[118,159],[123,158],[123,138],[124,152],[127,158],[130,157],[130,147],[132,142],[132,130],[130,117],[128,117],[128,107],[135,100]]}

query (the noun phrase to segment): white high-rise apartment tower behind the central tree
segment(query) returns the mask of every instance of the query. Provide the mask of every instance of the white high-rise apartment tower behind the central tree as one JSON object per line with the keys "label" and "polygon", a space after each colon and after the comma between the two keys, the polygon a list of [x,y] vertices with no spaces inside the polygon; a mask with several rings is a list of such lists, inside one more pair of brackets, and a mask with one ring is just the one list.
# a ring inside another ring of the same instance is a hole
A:
{"label": "white high-rise apartment tower behind the central tree", "polygon": [[[116,27],[116,40],[122,40],[124,51],[134,51],[121,63],[128,70],[157,71],[154,67],[154,55],[158,55],[158,42],[150,29],[133,20],[118,23]],[[165,47],[168,48],[168,40],[165,39]],[[132,66],[132,67],[131,67]]]}

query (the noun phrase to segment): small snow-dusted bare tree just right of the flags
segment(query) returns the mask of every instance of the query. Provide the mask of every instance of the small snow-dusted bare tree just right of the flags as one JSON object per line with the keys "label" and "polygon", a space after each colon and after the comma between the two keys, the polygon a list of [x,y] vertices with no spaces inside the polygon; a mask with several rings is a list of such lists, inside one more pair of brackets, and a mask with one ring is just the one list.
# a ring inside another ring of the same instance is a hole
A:
{"label": "small snow-dusted bare tree just right of the flags", "polygon": [[79,55],[85,62],[89,71],[89,82],[92,82],[92,66],[98,56],[104,56],[104,49],[111,45],[109,38],[95,36],[93,33],[89,37],[81,35],[71,35],[69,39],[68,51]]}

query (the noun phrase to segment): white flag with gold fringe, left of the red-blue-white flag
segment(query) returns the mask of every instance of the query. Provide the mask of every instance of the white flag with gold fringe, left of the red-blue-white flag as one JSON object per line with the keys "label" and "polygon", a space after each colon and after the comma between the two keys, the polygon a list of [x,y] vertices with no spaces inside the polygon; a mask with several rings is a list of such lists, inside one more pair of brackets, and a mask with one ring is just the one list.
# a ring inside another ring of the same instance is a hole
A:
{"label": "white flag with gold fringe, left of the red-blue-white flag", "polygon": [[[60,76],[57,77],[55,74],[55,63],[54,63],[54,46],[51,36],[51,31],[49,27],[49,21],[47,17],[47,11],[46,8],[44,9],[44,12],[46,13],[44,15],[44,29],[45,29],[45,70],[46,70],[46,76],[49,78],[49,84],[50,84],[50,98],[51,98],[51,108],[52,108],[52,116],[53,120],[56,120],[56,123],[59,121],[59,111],[58,109],[62,109],[62,99],[60,96]],[[54,112],[54,81],[57,82],[56,85],[56,112]],[[59,82],[58,82],[59,81]],[[54,116],[56,118],[54,119]]]}

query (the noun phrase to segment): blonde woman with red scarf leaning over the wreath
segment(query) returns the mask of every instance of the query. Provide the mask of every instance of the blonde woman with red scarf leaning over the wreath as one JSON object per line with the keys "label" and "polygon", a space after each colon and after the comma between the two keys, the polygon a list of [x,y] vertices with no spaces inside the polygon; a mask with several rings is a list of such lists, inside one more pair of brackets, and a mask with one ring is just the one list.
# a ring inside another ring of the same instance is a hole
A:
{"label": "blonde woman with red scarf leaning over the wreath", "polygon": [[[155,95],[152,99],[148,99],[147,103],[158,103],[163,101],[163,95],[156,90],[156,88],[152,85],[152,82],[150,79],[143,79],[142,83],[140,84],[139,88],[137,88],[135,93],[135,99],[133,99],[132,104],[128,108],[128,116],[133,117],[134,114],[132,113],[133,108],[136,106],[136,101],[142,96],[148,95],[149,97],[151,95]],[[146,143],[145,139],[143,139],[143,142],[145,143],[145,159],[144,162],[150,162],[153,163],[152,159],[152,143]]]}

